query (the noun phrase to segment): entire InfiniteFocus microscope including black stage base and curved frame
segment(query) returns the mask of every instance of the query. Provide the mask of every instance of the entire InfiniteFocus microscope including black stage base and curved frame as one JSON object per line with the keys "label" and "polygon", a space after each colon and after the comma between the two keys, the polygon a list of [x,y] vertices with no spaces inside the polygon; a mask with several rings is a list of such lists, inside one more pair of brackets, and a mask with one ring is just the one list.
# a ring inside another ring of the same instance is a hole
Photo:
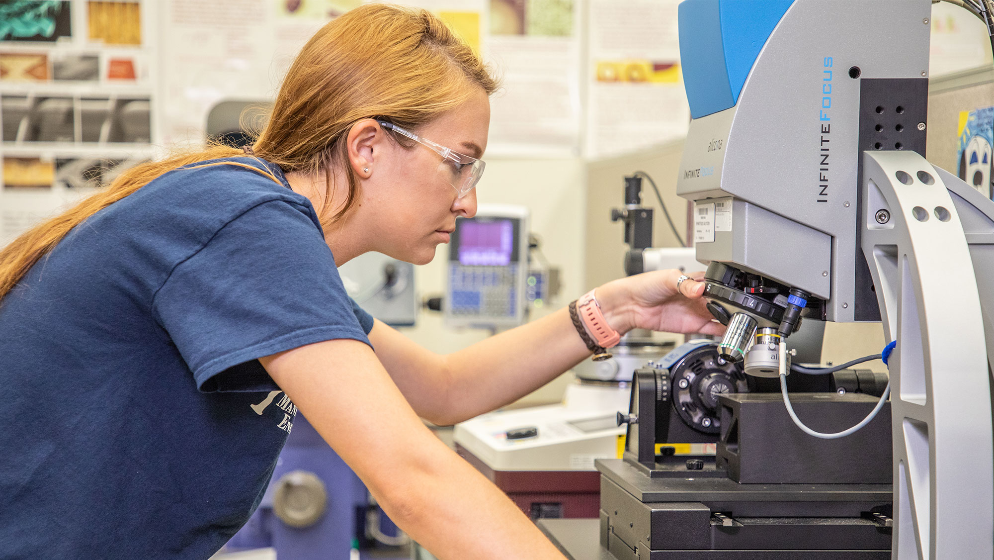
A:
{"label": "entire InfiniteFocus microscope including black stage base and curved frame", "polygon": [[[994,21],[989,2],[957,4]],[[636,374],[625,459],[597,462],[601,557],[994,557],[994,202],[924,158],[930,7],[680,4],[677,192],[728,330],[696,362]],[[883,321],[889,403],[795,394],[790,418],[786,340],[809,320]],[[688,372],[739,383],[732,366],[780,381],[782,400],[717,390],[715,467],[666,467],[674,387]],[[543,526],[586,557],[571,542],[590,537]]]}

